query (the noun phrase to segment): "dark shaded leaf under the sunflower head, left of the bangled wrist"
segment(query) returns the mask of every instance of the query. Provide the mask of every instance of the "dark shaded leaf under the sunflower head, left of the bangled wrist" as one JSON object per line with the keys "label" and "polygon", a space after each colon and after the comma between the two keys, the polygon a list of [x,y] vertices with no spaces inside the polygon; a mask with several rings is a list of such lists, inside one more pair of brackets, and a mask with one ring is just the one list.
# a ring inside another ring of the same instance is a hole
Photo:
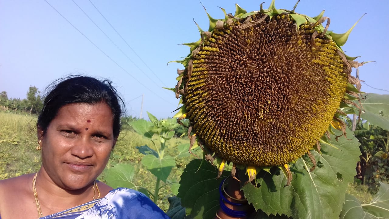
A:
{"label": "dark shaded leaf under the sunflower head, left of the bangled wrist", "polygon": [[[219,209],[219,185],[231,175],[224,171],[217,179],[217,169],[209,162],[195,159],[186,165],[181,175],[177,197],[192,219],[211,219]],[[201,166],[200,166],[201,165]]]}

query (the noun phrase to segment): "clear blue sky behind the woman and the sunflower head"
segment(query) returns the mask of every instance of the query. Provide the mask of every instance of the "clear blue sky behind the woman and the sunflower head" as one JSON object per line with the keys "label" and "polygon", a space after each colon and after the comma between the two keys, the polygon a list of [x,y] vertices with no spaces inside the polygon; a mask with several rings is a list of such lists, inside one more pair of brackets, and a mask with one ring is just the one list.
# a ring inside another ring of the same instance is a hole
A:
{"label": "clear blue sky behind the woman and the sunflower head", "polygon": [[[208,19],[199,1],[102,1],[91,0],[126,43],[116,34],[89,0],[74,0],[88,16],[128,56],[114,45],[71,0],[47,0],[76,28],[96,44],[104,55],[44,0],[1,0],[0,3],[0,91],[9,97],[25,98],[30,85],[43,91],[51,81],[72,73],[109,78],[126,101],[128,114],[139,117],[144,94],[146,111],[158,118],[172,117],[178,100],[161,87],[174,87],[177,68],[167,62],[186,57],[189,48],[180,43],[200,37],[193,19],[208,29]],[[202,0],[214,18],[223,18],[223,7],[235,12],[235,3],[247,11],[259,10],[258,0]],[[266,1],[267,8],[270,0]],[[359,62],[374,60],[360,67],[360,79],[368,85],[389,90],[389,7],[386,0],[301,0],[296,12],[316,16],[325,9],[331,18],[330,30],[346,32],[364,13],[343,50],[359,56]],[[277,0],[275,6],[292,9],[294,0]],[[138,58],[146,63],[146,65]],[[135,66],[134,62],[137,66]],[[151,69],[151,70],[150,70]],[[158,78],[156,78],[157,75]],[[352,73],[355,75],[355,70]],[[151,81],[149,78],[152,78]],[[136,80],[135,80],[135,79]],[[143,84],[143,85],[142,85]],[[364,84],[365,92],[389,94]]]}

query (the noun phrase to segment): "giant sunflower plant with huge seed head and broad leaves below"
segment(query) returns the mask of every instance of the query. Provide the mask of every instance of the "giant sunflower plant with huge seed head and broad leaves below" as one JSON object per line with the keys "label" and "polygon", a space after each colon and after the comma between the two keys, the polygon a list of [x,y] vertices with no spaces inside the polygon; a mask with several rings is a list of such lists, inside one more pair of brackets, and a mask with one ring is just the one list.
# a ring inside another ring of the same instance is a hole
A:
{"label": "giant sunflower plant with huge seed head and broad leaves below", "polygon": [[189,119],[189,151],[200,146],[209,161],[181,176],[178,196],[194,218],[214,217],[215,188],[227,176],[242,182],[258,214],[339,217],[360,155],[342,117],[363,111],[351,71],[364,62],[341,48],[356,24],[336,34],[324,11],[310,17],[296,6],[277,9],[273,0],[253,12],[222,9],[222,19],[207,13],[209,29],[198,27],[189,55],[174,61],[184,66],[172,88],[175,117]]}

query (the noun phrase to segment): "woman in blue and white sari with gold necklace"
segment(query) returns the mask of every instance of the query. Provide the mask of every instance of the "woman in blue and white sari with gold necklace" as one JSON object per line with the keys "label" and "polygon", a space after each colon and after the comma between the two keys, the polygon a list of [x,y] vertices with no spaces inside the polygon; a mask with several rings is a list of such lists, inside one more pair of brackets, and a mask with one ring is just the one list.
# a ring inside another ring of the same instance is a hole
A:
{"label": "woman in blue and white sari with gold necklace", "polygon": [[169,218],[144,194],[96,180],[119,136],[120,103],[107,80],[56,83],[37,121],[41,168],[0,181],[0,219]]}

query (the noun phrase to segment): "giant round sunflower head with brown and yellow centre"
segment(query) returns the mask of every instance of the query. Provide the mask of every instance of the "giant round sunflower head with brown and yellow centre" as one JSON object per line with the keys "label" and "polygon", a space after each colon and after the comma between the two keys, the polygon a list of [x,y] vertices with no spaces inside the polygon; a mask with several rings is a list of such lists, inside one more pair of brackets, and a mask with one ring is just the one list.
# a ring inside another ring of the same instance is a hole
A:
{"label": "giant round sunflower head with brown and yellow centre", "polygon": [[209,31],[200,29],[201,39],[187,44],[191,53],[177,61],[185,67],[175,87],[183,104],[177,117],[189,118],[189,136],[224,162],[284,166],[331,124],[342,129],[340,105],[357,99],[353,85],[360,86],[350,75],[357,62],[340,48],[350,31],[330,33],[322,25],[329,18],[275,9],[274,1],[267,10],[237,5],[234,16],[224,14],[209,16]]}

